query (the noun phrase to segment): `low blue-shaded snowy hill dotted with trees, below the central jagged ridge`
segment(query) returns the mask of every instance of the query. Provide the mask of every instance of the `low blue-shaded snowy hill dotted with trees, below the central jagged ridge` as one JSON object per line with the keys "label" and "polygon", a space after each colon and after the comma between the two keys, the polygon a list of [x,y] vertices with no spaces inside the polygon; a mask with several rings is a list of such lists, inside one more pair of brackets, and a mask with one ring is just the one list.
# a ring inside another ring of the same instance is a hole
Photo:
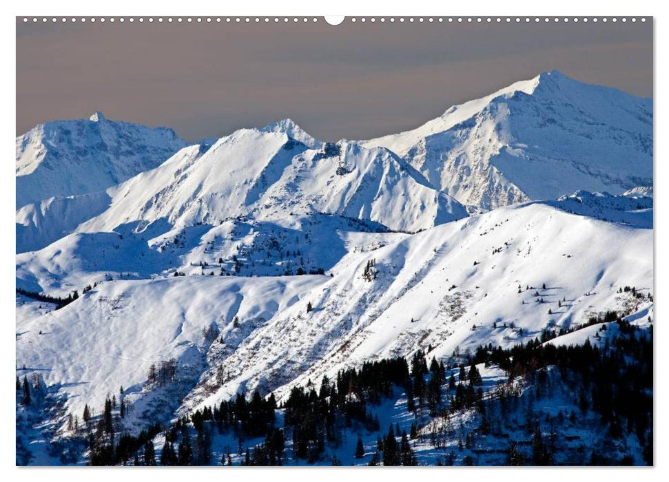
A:
{"label": "low blue-shaded snowy hill dotted with trees, below the central jagged ridge", "polygon": [[175,229],[158,224],[139,232],[134,227],[72,233],[44,249],[17,255],[17,286],[66,297],[112,279],[329,274],[356,252],[406,236],[373,222],[322,214]]}

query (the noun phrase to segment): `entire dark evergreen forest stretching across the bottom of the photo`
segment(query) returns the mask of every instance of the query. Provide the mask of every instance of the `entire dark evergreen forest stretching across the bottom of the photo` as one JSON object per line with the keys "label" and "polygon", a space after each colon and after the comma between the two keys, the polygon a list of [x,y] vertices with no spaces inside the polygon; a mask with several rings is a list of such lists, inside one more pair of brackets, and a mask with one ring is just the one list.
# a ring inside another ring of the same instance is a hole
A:
{"label": "entire dark evergreen forest stretching across the bottom of the photo", "polygon": [[[213,408],[201,408],[189,417],[181,417],[165,429],[159,460],[153,442],[162,432],[158,423],[136,437],[125,432],[121,421],[126,410],[122,388],[118,403],[116,396],[107,397],[98,416],[85,406],[81,425],[70,414],[68,430],[85,440],[91,465],[211,465],[212,439],[217,429],[220,434],[234,434],[238,439],[242,465],[288,463],[287,440],[292,441],[294,459],[308,463],[325,459],[340,465],[338,456],[327,455],[327,449],[341,446],[344,431],[357,432],[355,452],[350,455],[363,459],[366,453],[360,434],[380,432],[375,407],[397,395],[399,389],[406,392],[406,409],[415,419],[408,434],[398,424],[382,432],[369,465],[416,465],[412,441],[429,439],[433,447],[444,448],[446,440],[453,437],[457,437],[458,451],[467,450],[458,459],[463,465],[475,465],[479,454],[492,452],[501,452],[500,457],[505,457],[508,465],[554,465],[564,461],[560,450],[566,447],[564,438],[569,434],[557,428],[593,421],[604,428],[607,441],[620,441],[618,447],[626,447],[631,438],[636,439],[643,461],[652,465],[652,326],[646,330],[620,319],[613,322],[615,318],[615,313],[610,312],[588,320],[588,324],[602,323],[599,331],[606,332],[606,339],[599,346],[589,341],[579,346],[545,344],[546,337],[555,335],[545,332],[549,335],[542,334],[542,339],[507,349],[493,348],[492,344],[480,346],[455,369],[434,358],[428,365],[421,350],[409,361],[395,357],[364,362],[358,368],[340,370],[335,379],[323,377],[320,386],[309,381],[306,386],[294,387],[280,407],[271,394],[263,397],[258,390],[248,398],[238,394]],[[506,383],[486,397],[479,370],[482,364],[499,366],[508,376]],[[150,370],[150,381],[156,384],[175,376],[176,362],[164,362],[161,368],[153,366]],[[524,380],[526,390],[517,389],[517,379]],[[569,414],[562,410],[557,415],[537,417],[532,408],[534,401],[549,397],[555,384],[572,397],[570,403],[576,411],[581,410],[580,417],[574,411]],[[32,383],[28,377],[17,377],[16,390],[17,404],[33,406],[41,397],[39,377],[34,376]],[[282,427],[276,423],[278,409],[283,410]],[[438,432],[453,430],[438,428],[438,423],[428,429],[433,430],[431,434],[426,432],[427,414],[429,419],[449,420],[467,411],[475,413],[475,420],[480,421],[469,432],[462,428],[457,433]],[[509,439],[506,434],[504,439],[502,426],[506,430],[512,427],[511,433],[519,434],[513,428],[518,423],[522,423],[522,436]],[[258,437],[263,437],[261,443],[243,447],[244,439]],[[486,441],[492,440],[486,437],[497,437],[506,446],[498,448],[500,443],[495,442],[495,448],[486,448]],[[632,452],[622,452],[621,459],[621,449],[614,455],[602,447],[606,446],[593,447],[591,454],[578,459],[579,463],[638,463]],[[451,450],[437,463],[453,465],[455,461]],[[231,465],[229,450],[220,463]]]}

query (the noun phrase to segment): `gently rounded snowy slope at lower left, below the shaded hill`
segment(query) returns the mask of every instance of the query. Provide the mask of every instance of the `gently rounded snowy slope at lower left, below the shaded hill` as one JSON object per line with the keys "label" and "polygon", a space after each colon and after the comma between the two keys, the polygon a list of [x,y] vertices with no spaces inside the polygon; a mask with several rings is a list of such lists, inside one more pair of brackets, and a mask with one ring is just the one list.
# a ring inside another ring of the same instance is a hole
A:
{"label": "gently rounded snowy slope at lower left, below the shaded hill", "polygon": [[[324,280],[198,276],[106,282],[41,316],[35,316],[34,302],[31,308],[17,298],[17,374],[23,366],[26,373],[40,373],[48,385],[59,386],[68,408],[79,415],[85,404],[97,412],[107,393],[117,394],[123,386],[135,417],[157,410],[169,420],[208,365],[207,350],[220,345],[217,337],[223,335],[227,349],[234,350]],[[177,363],[178,384],[145,390],[150,366],[170,359]],[[166,404],[163,412],[152,406],[158,403]]]}

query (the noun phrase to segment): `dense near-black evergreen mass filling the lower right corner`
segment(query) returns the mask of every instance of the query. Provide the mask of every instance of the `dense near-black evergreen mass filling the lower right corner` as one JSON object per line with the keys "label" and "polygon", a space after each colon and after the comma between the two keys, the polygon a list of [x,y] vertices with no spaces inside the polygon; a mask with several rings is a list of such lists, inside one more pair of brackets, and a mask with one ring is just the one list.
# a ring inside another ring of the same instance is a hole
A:
{"label": "dense near-black evergreen mass filling the lower right corner", "polygon": [[[597,322],[600,321],[598,318]],[[607,338],[603,346],[593,345],[589,339],[572,346],[543,344],[534,339],[506,350],[480,347],[473,362],[500,366],[508,373],[509,381],[517,377],[528,379],[535,386],[532,395],[536,399],[550,390],[546,369],[555,367],[564,384],[573,387],[581,412],[595,412],[601,426],[606,428],[606,437],[612,441],[635,437],[643,448],[644,461],[652,465],[652,326],[644,330],[621,319],[615,326],[618,333]],[[576,416],[570,417],[575,422]],[[553,455],[537,426],[532,447],[531,460],[535,465],[553,463]],[[512,457],[518,448],[513,449],[509,448],[508,463],[525,461],[524,456]],[[621,461],[593,452],[590,463],[619,464]]]}

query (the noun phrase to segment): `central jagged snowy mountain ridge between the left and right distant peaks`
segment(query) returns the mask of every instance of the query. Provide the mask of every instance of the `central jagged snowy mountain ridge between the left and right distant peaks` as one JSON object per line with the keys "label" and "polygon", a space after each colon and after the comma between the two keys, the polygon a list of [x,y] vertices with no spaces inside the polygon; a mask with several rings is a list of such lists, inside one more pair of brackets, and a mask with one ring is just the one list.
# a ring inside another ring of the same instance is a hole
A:
{"label": "central jagged snowy mountain ridge between the left and right distant peaks", "polygon": [[173,229],[295,213],[409,232],[467,216],[391,151],[320,143],[287,120],[185,147],[106,191],[27,205],[17,211],[17,251],[40,249],[72,231],[114,231],[132,222],[140,230],[158,222]]}

